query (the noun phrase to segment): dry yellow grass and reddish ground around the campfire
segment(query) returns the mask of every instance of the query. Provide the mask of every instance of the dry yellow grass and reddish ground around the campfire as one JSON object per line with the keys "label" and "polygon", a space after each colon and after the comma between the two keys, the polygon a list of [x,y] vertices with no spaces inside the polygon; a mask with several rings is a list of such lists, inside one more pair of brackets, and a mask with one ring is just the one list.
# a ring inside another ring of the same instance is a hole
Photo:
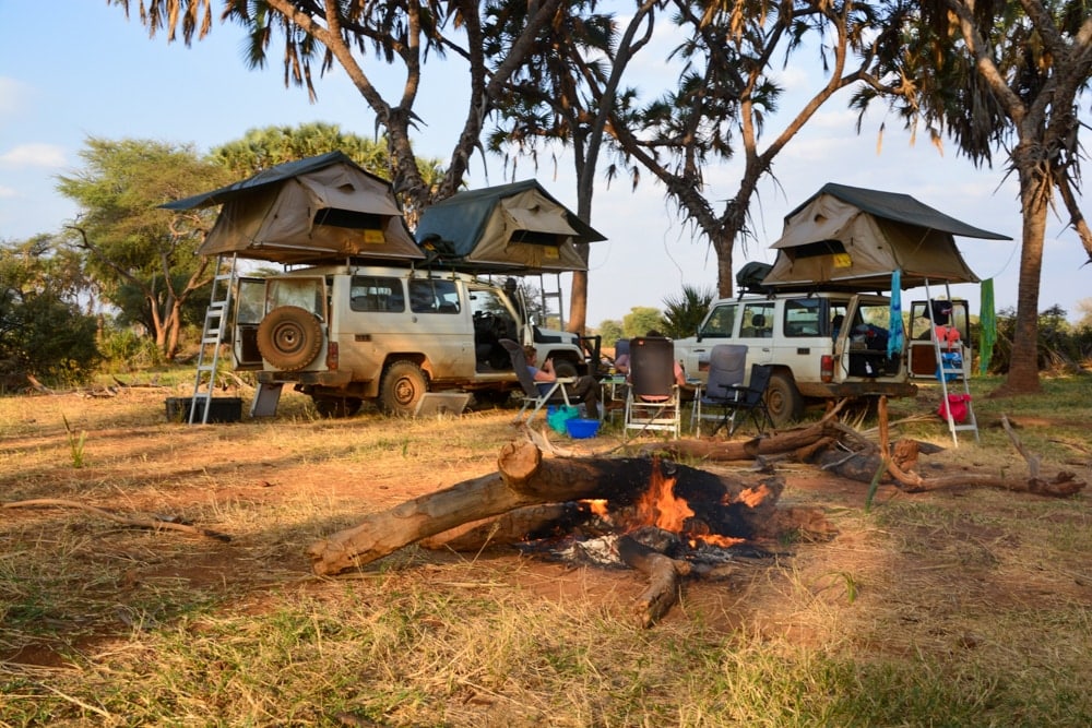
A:
{"label": "dry yellow grass and reddish ground around the campfire", "polygon": [[[982,442],[926,458],[926,475],[1022,472],[994,427],[1005,411],[1048,467],[1090,479],[1085,379],[1026,401],[989,401],[989,384],[976,383]],[[0,725],[1092,720],[1084,493],[883,486],[866,510],[867,485],[786,466],[783,500],[821,506],[839,536],[691,582],[644,631],[629,613],[643,584],[624,571],[405,549],[336,580],[311,575],[314,540],[494,469],[511,411],[329,421],[289,396],[274,421],[191,427],[166,421],[177,394],[0,399],[4,502],[76,499],[234,537],[0,510]],[[933,396],[893,403],[893,416],[929,411]],[[951,444],[935,420],[899,433]],[[566,444],[617,443],[615,431]]]}

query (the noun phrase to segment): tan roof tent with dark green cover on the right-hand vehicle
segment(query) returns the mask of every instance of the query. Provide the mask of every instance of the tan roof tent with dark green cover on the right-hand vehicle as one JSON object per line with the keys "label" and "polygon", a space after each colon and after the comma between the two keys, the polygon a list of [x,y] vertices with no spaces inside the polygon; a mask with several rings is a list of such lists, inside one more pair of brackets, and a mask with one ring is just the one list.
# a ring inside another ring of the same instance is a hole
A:
{"label": "tan roof tent with dark green cover on the right-hand vehicle", "polygon": [[785,216],[762,285],[778,289],[890,290],[926,282],[977,283],[954,236],[1011,240],[961,223],[909,194],[828,183]]}

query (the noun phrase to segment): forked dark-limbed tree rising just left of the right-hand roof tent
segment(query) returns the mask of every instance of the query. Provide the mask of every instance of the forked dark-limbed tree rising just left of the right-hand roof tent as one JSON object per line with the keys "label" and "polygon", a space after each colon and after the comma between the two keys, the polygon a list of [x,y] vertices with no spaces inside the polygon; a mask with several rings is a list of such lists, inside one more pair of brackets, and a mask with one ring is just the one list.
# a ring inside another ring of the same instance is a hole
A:
{"label": "forked dark-limbed tree rising just left of the right-hand roof tent", "polygon": [[[761,178],[773,174],[775,157],[840,89],[876,83],[877,49],[891,41],[895,29],[890,19],[881,22],[874,4],[675,0],[685,37],[675,50],[684,61],[677,88],[643,106],[627,99],[610,129],[626,163],[654,175],[679,215],[713,248],[722,297],[732,295],[733,252],[753,237],[748,211]],[[780,131],[764,133],[783,95],[775,59],[803,62],[805,41],[816,49],[826,81]],[[762,138],[770,140],[764,147]],[[703,168],[740,152],[736,192],[709,190]],[[711,202],[714,196],[727,198],[722,208]]]}

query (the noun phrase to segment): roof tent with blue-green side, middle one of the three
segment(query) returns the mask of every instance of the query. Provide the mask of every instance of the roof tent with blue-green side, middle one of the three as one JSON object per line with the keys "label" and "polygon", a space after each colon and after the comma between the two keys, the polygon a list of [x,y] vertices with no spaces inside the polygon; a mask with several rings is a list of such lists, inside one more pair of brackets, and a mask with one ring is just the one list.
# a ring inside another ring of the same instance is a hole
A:
{"label": "roof tent with blue-green side, middle one of the three", "polygon": [[533,179],[438,202],[415,235],[430,260],[474,273],[585,271],[575,244],[606,240]]}

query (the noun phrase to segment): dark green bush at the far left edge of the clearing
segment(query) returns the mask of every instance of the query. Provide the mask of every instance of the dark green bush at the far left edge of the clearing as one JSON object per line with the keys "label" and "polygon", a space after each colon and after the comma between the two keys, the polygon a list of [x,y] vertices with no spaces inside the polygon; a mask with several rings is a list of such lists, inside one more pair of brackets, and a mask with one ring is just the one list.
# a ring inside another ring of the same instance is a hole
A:
{"label": "dark green bush at the far left edge of the clearing", "polygon": [[49,240],[0,244],[0,378],[22,386],[27,374],[49,384],[85,381],[98,358],[97,322],[80,311],[82,289],[71,258]]}

